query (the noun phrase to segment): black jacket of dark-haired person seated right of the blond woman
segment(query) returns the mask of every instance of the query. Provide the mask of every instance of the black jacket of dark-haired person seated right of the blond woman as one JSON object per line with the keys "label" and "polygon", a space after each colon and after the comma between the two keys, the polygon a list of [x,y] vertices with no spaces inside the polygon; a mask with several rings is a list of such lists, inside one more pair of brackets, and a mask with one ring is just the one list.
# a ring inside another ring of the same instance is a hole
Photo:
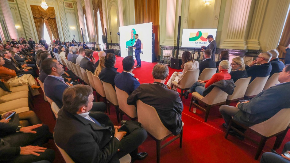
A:
{"label": "black jacket of dark-haired person seated right of the blond woman", "polygon": [[117,69],[115,67],[111,67],[111,68],[104,68],[102,69],[102,71],[99,74],[99,78],[101,81],[105,81],[106,83],[110,83],[113,88],[115,89],[115,76],[117,74],[120,74],[119,72],[117,72]]}

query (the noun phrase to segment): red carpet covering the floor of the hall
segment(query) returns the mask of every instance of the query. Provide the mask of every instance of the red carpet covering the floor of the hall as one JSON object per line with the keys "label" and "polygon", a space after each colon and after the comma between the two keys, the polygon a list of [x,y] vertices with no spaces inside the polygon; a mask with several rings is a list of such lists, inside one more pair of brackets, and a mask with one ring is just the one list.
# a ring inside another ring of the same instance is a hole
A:
{"label": "red carpet covering the floor of the hall", "polygon": [[[98,56],[95,55],[95,58],[98,59]],[[115,67],[118,68],[118,72],[122,72],[122,59],[117,57]],[[135,74],[136,78],[139,78],[141,84],[153,82],[151,72],[155,64],[157,63],[142,62],[142,67],[133,71],[133,74]],[[177,70],[169,68],[169,75],[174,71]],[[39,91],[41,95],[33,98],[35,105],[33,110],[42,122],[49,126],[50,131],[53,132],[55,120],[53,119],[50,105],[43,100],[42,90],[39,89]],[[196,113],[188,111],[190,98],[189,96],[187,100],[183,99],[184,111],[182,113],[182,121],[184,122],[184,135],[182,148],[179,148],[179,140],[166,146],[161,150],[161,162],[259,162],[254,160],[257,145],[247,140],[240,141],[231,135],[228,136],[228,139],[224,138],[226,130],[222,127],[224,121],[218,111],[218,106],[211,108],[208,121],[205,123],[205,112],[200,109],[197,109]],[[231,105],[235,105],[235,102]],[[115,108],[112,106],[109,117],[115,125],[118,125]],[[123,116],[123,118],[128,119],[126,116]],[[254,138],[260,139],[257,136],[254,136]],[[278,153],[282,151],[284,144],[288,141],[290,141],[289,133],[286,135],[281,147],[277,150]],[[275,138],[269,139],[263,152],[269,152],[274,142]],[[64,162],[53,141],[50,141],[46,146],[56,151],[54,162]],[[156,162],[156,142],[150,136],[138,149],[140,152],[147,152],[148,157],[143,161],[135,162]]]}

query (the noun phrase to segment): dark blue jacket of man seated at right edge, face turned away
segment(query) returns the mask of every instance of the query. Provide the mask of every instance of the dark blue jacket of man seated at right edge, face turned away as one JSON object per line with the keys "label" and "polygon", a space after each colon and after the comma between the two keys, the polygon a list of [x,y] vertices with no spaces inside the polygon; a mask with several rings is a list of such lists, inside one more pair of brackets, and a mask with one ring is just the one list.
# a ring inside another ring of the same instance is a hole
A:
{"label": "dark blue jacket of man seated at right edge, face turned away", "polygon": [[234,119],[246,126],[264,122],[284,108],[290,108],[290,82],[273,86],[259,93],[248,103],[238,104]]}

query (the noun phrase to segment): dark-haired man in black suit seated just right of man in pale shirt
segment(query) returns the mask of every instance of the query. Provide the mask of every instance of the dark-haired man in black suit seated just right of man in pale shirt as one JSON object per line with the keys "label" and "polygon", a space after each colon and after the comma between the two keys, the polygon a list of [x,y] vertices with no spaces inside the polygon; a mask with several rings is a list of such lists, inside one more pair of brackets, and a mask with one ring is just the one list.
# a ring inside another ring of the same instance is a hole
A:
{"label": "dark-haired man in black suit seated just right of man in pale shirt", "polygon": [[94,64],[96,63],[96,59],[93,57],[94,51],[91,49],[87,49],[85,52],[85,57],[81,60],[79,66],[85,70],[95,72]]}

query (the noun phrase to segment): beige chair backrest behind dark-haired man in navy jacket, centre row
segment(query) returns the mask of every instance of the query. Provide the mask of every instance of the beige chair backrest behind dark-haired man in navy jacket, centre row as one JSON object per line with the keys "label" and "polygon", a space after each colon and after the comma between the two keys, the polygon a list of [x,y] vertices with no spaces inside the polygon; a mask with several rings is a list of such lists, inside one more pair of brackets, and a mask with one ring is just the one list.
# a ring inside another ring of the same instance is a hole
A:
{"label": "beige chair backrest behind dark-haired man in navy jacket, centre row", "polygon": [[119,108],[125,112],[128,116],[130,116],[131,118],[135,118],[137,117],[137,110],[136,107],[134,105],[128,105],[127,104],[127,98],[129,97],[128,93],[118,89],[118,87],[116,87],[116,94],[117,94],[117,99],[118,99],[118,104],[119,104]]}

